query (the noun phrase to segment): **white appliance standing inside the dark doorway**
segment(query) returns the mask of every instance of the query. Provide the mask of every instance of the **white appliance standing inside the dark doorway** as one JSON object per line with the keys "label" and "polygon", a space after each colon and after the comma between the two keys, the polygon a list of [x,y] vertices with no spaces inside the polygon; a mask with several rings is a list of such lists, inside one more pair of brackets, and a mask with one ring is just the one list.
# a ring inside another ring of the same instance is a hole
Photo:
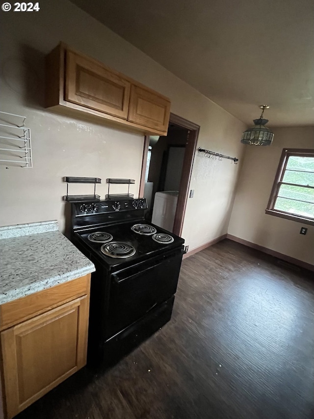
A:
{"label": "white appliance standing inside the dark doorway", "polygon": [[175,221],[178,191],[156,192],[152,223],[172,232]]}

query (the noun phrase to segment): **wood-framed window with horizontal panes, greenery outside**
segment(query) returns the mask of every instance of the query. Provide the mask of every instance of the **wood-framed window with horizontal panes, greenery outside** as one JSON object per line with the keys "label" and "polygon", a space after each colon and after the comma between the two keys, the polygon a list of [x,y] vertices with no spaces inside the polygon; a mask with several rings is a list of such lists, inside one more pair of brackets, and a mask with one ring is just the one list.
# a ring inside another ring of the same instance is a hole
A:
{"label": "wood-framed window with horizontal panes, greenery outside", "polygon": [[283,150],[265,212],[314,224],[314,150]]}

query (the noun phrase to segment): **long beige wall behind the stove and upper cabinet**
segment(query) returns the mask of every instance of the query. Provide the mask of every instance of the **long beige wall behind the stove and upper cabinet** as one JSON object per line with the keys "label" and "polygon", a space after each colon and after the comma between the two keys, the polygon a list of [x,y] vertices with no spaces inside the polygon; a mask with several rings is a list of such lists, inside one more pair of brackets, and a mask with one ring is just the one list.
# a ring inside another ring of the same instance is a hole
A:
{"label": "long beige wall behind the stove and upper cabinet", "polygon": [[[201,126],[199,145],[241,159],[243,123],[67,0],[36,13],[1,13],[1,110],[26,115],[34,167],[0,165],[0,225],[57,219],[64,227],[62,176],[130,177],[138,194],[143,137],[43,108],[44,56],[62,40],[170,97],[171,111]],[[6,169],[8,167],[8,169]],[[240,165],[197,154],[183,237],[190,249],[227,232]],[[97,192],[104,198],[106,185]],[[71,189],[90,193],[91,186]],[[112,191],[114,192],[114,191]],[[120,192],[120,191],[118,191]]]}

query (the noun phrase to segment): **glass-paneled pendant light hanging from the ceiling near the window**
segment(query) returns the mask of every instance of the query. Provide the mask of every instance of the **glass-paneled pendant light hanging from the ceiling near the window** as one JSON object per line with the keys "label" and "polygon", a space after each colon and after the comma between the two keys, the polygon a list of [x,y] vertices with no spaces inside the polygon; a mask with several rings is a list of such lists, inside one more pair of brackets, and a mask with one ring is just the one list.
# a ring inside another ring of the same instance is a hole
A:
{"label": "glass-paneled pendant light hanging from the ceiling near the window", "polygon": [[242,144],[250,145],[270,145],[274,138],[274,133],[266,128],[264,125],[267,124],[268,119],[263,119],[263,113],[269,106],[261,105],[262,114],[259,119],[253,119],[254,127],[247,129],[242,134]]}

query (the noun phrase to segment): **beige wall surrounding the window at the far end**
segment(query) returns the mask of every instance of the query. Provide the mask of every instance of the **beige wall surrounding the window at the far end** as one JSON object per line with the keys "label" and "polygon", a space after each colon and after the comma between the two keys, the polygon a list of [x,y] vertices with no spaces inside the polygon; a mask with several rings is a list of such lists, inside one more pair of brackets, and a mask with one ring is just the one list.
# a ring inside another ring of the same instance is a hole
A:
{"label": "beige wall surrounding the window at the far end", "polygon": [[269,147],[247,146],[228,233],[314,264],[314,226],[265,214],[283,148],[313,149],[314,127],[276,128],[274,134]]}

